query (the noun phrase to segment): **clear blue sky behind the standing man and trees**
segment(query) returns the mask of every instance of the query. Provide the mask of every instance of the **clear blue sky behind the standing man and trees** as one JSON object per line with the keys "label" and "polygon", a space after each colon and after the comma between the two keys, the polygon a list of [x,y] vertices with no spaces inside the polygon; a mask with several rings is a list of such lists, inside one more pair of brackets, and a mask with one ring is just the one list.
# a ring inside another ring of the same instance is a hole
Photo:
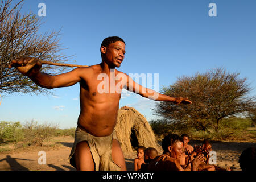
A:
{"label": "clear blue sky behind the standing man and trees", "polygon": [[[177,77],[223,67],[247,77],[256,94],[256,1],[37,1],[25,0],[22,12],[38,14],[46,4],[40,32],[60,30],[60,43],[76,64],[101,62],[100,44],[108,36],[126,42],[119,71],[159,74],[159,88]],[[210,3],[217,16],[210,17]],[[76,127],[79,84],[54,89],[54,96],[14,93],[2,98],[0,121],[58,123]],[[119,106],[133,106],[148,120],[154,101],[123,93]]]}

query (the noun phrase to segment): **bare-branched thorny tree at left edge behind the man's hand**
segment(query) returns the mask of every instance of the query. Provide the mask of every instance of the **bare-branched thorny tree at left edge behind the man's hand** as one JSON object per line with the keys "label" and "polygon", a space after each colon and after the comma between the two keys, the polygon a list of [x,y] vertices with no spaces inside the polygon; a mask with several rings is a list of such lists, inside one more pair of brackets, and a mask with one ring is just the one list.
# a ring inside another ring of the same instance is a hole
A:
{"label": "bare-branched thorny tree at left edge behind the man's hand", "polygon": [[[51,93],[34,84],[15,68],[8,69],[10,61],[23,56],[37,57],[52,62],[66,62],[71,56],[60,53],[59,32],[38,34],[41,20],[35,14],[20,14],[22,1],[12,6],[12,0],[0,4],[0,93]],[[62,60],[62,61],[61,61]],[[43,65],[46,73],[60,73],[64,67]]]}

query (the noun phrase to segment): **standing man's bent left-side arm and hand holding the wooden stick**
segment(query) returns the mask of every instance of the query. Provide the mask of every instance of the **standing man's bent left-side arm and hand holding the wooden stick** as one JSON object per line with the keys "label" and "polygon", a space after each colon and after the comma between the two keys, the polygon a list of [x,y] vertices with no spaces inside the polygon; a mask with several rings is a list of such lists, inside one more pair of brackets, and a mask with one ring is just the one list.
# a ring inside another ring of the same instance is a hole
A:
{"label": "standing man's bent left-side arm and hand holding the wooden stick", "polygon": [[[31,62],[33,62],[31,64]],[[81,80],[81,69],[76,68],[71,72],[63,73],[60,75],[52,76],[47,73],[40,72],[42,64],[40,61],[31,57],[23,57],[11,61],[9,68],[15,67],[24,76],[28,76],[36,85],[43,88],[53,89],[65,86],[72,86]]]}

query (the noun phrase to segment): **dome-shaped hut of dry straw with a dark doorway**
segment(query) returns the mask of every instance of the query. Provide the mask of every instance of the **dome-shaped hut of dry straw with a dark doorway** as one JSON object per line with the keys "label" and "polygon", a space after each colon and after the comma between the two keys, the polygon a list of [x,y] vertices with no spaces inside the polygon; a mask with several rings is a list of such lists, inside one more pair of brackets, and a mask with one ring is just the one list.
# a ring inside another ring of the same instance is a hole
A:
{"label": "dome-shaped hut of dry straw with a dark doorway", "polygon": [[115,131],[123,152],[133,152],[138,146],[158,149],[150,124],[133,107],[124,106],[119,109]]}

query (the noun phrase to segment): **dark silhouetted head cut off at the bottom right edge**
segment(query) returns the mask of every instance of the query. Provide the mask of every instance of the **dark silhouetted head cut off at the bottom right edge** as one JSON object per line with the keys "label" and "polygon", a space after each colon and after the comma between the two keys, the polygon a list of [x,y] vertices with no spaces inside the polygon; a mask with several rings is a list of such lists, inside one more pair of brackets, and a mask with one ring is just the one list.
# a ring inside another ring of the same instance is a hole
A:
{"label": "dark silhouetted head cut off at the bottom right edge", "polygon": [[242,171],[255,171],[256,151],[254,147],[246,148],[238,160]]}

